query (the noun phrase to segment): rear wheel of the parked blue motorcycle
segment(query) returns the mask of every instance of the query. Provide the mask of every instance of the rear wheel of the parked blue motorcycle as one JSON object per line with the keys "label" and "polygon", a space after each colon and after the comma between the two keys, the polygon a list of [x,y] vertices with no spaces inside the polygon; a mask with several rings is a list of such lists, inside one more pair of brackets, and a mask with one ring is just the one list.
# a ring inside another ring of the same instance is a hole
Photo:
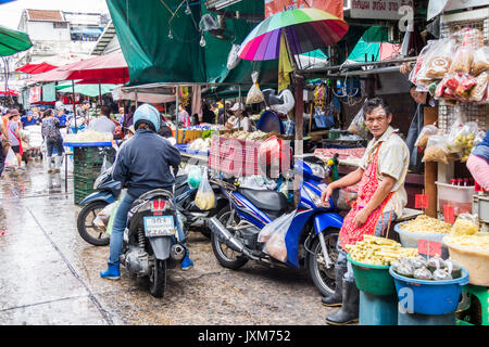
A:
{"label": "rear wheel of the parked blue motorcycle", "polygon": [[[231,211],[229,206],[226,206],[217,214],[216,218],[221,223],[223,223],[223,226],[226,226],[230,217],[230,214]],[[231,231],[229,232],[233,233]],[[222,267],[231,270],[237,270],[248,262],[247,257],[227,247],[227,245],[221,242],[220,239],[214,233],[211,234],[211,244],[212,244],[212,252],[214,253],[214,256],[216,257],[217,261],[221,264]],[[223,247],[225,248],[223,249]]]}

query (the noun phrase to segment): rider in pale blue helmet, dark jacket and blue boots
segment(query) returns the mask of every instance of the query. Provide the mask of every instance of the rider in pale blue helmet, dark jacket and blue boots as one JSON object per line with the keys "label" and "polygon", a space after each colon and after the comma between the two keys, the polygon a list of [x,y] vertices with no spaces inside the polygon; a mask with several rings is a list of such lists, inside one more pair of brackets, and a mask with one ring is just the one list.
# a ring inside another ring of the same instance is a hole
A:
{"label": "rider in pale blue helmet, dark jacket and blue boots", "polygon": [[[117,211],[115,213],[110,241],[109,268],[101,271],[104,279],[121,278],[118,257],[122,254],[124,229],[127,224],[127,214],[130,205],[142,194],[154,189],[173,192],[175,177],[171,170],[178,168],[180,153],[170,141],[158,134],[160,130],[160,112],[150,105],[142,104],[134,113],[135,136],[121,146],[117,153],[112,178],[127,188]],[[177,219],[177,230],[180,240],[185,239],[181,226]],[[193,262],[187,255],[181,260],[181,269],[189,269]]]}

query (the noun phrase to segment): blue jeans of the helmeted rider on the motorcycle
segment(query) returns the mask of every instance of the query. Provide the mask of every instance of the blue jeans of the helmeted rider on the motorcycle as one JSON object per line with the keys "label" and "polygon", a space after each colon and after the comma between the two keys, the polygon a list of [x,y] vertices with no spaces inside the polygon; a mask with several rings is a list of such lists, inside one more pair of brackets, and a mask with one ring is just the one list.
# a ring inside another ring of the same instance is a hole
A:
{"label": "blue jeans of the helmeted rider on the motorcycle", "polygon": [[[118,205],[117,211],[115,213],[114,223],[112,224],[111,232],[111,250],[109,259],[110,266],[118,265],[118,257],[122,254],[122,245],[124,241],[124,230],[127,227],[127,214],[129,213],[130,205],[133,205],[136,200],[137,197],[126,193],[126,195],[121,201],[121,204]],[[185,234],[178,218],[175,218],[175,223],[178,231],[178,239],[184,240]]]}

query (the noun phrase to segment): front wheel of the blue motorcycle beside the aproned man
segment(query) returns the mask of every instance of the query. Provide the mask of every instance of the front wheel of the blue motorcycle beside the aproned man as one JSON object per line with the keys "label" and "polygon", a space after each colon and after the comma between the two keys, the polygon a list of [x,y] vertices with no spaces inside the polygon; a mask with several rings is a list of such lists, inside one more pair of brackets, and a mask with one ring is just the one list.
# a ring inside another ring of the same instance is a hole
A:
{"label": "front wheel of the blue motorcycle beside the aproned man", "polygon": [[326,268],[326,262],[323,256],[323,248],[321,247],[319,237],[316,237],[312,243],[311,254],[309,255],[309,271],[314,285],[319,291],[321,295],[331,295],[335,293],[336,275],[335,265],[338,259],[338,250],[336,249],[336,243],[338,242],[339,231],[324,232],[324,242],[328,250],[329,259],[333,266]]}

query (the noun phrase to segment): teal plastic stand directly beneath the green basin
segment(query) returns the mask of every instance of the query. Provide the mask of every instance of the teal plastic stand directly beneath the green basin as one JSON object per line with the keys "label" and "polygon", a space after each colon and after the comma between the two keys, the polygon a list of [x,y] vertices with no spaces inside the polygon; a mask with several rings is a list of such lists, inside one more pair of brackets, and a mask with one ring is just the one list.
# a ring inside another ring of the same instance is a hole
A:
{"label": "teal plastic stand directly beneath the green basin", "polygon": [[398,296],[360,291],[359,325],[398,325]]}

